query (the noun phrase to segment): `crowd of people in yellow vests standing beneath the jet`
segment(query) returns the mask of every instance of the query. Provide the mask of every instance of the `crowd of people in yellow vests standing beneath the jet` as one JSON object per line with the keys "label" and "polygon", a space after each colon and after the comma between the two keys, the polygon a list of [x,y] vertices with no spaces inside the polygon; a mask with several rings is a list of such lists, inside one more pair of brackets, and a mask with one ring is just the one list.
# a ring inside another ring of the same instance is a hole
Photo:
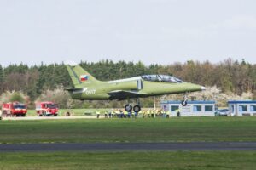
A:
{"label": "crowd of people in yellow vests standing beneath the jet", "polygon": [[164,111],[164,110],[143,110],[139,112],[134,111],[122,111],[122,110],[108,110],[104,111],[96,111],[96,117],[100,118],[100,116],[104,114],[105,118],[137,118],[138,115],[143,115],[143,118],[154,118],[154,117],[166,117],[169,118],[171,116],[171,111]]}

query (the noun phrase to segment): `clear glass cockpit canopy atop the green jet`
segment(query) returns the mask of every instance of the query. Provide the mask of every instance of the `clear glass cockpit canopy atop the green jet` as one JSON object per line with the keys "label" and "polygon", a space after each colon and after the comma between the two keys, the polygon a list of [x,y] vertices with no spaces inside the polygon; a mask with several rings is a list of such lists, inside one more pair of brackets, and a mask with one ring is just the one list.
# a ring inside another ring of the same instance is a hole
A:
{"label": "clear glass cockpit canopy atop the green jet", "polygon": [[172,82],[172,83],[182,83],[183,81],[168,75],[144,75],[143,80],[151,82]]}

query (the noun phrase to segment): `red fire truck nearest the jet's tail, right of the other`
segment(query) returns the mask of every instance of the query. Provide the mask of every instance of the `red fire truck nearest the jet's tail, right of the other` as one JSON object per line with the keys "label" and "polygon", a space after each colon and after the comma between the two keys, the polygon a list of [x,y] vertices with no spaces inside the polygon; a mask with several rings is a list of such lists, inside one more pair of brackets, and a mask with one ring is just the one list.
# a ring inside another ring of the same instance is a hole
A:
{"label": "red fire truck nearest the jet's tail, right of the other", "polygon": [[36,103],[36,111],[38,116],[57,116],[58,105],[51,101],[43,101]]}

